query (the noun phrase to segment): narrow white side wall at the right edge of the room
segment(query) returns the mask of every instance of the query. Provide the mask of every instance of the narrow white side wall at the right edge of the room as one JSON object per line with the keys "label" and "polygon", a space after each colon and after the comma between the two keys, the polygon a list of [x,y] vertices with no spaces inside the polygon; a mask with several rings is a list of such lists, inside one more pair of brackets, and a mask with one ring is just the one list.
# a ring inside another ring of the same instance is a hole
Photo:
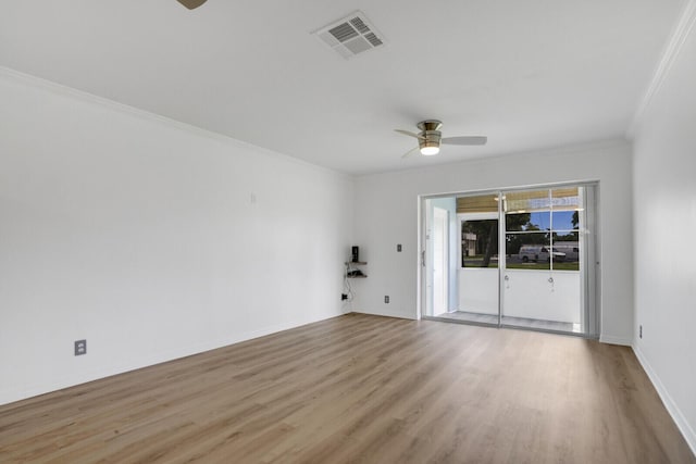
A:
{"label": "narrow white side wall at the right edge of the room", "polygon": [[634,349],[696,452],[696,30],[672,58],[635,135]]}

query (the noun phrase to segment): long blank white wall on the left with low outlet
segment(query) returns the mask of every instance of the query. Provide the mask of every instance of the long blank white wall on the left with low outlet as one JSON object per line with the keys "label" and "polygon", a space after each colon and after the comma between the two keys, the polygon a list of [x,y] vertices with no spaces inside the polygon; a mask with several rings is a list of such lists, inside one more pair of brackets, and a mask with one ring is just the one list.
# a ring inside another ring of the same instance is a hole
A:
{"label": "long blank white wall on the left with low outlet", "polygon": [[0,101],[0,403],[344,310],[351,178],[8,70]]}

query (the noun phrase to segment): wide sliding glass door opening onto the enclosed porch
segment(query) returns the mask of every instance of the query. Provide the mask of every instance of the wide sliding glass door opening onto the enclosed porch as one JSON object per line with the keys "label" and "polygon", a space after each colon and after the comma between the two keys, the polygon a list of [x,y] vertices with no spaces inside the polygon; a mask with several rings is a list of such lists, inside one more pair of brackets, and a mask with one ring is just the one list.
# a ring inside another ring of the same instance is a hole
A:
{"label": "wide sliding glass door opening onto the enclosed porch", "polygon": [[597,337],[597,187],[423,198],[421,315]]}

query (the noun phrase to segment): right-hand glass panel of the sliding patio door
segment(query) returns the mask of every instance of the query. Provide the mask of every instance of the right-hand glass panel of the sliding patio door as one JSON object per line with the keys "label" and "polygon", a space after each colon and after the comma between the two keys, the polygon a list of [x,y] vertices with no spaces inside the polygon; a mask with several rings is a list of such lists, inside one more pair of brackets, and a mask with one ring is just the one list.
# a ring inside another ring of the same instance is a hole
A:
{"label": "right-hand glass panel of the sliding patio door", "polygon": [[501,324],[587,331],[585,190],[572,186],[505,193]]}

